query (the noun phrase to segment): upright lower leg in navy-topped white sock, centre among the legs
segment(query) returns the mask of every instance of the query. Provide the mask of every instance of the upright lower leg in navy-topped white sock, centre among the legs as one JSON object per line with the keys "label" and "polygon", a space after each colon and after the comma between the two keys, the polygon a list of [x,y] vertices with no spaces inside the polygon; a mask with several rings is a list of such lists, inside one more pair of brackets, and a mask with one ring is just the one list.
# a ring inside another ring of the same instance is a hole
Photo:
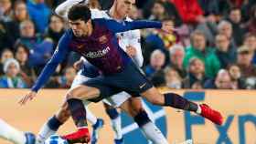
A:
{"label": "upright lower leg in navy-topped white sock, centre among the legs", "polygon": [[115,144],[123,143],[122,123],[119,112],[116,108],[110,106],[109,104],[106,104],[105,102],[103,102],[103,106],[106,110],[107,115],[111,118]]}

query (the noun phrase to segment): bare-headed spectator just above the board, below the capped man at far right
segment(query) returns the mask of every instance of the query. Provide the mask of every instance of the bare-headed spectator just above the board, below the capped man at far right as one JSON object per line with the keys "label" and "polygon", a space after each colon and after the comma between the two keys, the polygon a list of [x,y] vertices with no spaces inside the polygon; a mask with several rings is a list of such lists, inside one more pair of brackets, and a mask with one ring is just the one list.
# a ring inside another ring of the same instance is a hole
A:
{"label": "bare-headed spectator just above the board, below the capped man at far right", "polygon": [[229,65],[228,70],[229,70],[229,75],[231,77],[232,87],[234,89],[246,88],[245,81],[241,77],[240,67],[236,64],[231,64]]}

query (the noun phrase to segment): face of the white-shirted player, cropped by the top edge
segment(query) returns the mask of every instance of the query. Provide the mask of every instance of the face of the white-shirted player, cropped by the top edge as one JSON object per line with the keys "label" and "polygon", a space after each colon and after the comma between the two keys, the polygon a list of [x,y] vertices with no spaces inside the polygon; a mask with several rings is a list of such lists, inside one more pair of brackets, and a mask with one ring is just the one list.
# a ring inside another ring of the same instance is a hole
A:
{"label": "face of the white-shirted player, cropped by the top edge", "polygon": [[122,15],[124,18],[132,10],[135,0],[115,0],[115,3],[118,14]]}

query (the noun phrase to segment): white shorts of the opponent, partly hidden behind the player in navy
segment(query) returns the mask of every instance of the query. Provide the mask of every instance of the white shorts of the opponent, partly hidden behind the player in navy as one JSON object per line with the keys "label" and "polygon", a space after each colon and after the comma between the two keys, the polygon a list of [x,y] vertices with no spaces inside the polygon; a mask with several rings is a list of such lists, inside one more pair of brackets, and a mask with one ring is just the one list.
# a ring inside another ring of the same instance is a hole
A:
{"label": "white shorts of the opponent, partly hidden behind the player in navy", "polygon": [[[80,75],[80,72],[79,72],[77,74],[77,76],[74,78],[71,88],[76,87],[89,79],[90,79],[90,77],[82,76],[82,75]],[[128,93],[123,91],[123,92],[115,94],[109,98],[104,98],[102,101],[114,108],[119,108],[123,104],[123,102],[129,98],[131,98],[131,95],[129,95]],[[90,102],[88,100],[84,101],[85,105],[88,105],[89,103]]]}

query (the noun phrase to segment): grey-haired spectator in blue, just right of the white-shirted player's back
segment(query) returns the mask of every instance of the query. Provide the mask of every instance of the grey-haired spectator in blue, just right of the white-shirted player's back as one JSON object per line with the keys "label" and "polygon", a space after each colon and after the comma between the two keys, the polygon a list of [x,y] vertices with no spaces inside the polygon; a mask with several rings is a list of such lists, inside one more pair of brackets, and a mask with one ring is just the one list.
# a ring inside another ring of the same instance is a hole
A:
{"label": "grey-haired spectator in blue, just right of the white-shirted player's back", "polygon": [[165,54],[155,49],[150,56],[150,64],[144,68],[146,77],[151,77],[155,72],[165,67]]}

